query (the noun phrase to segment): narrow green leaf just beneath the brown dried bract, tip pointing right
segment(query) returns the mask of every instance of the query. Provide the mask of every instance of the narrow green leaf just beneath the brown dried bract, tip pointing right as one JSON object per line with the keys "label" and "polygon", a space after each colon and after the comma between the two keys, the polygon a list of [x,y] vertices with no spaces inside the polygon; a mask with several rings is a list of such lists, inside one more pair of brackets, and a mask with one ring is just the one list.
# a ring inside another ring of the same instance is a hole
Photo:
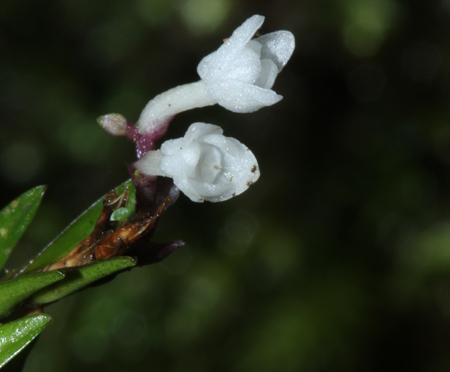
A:
{"label": "narrow green leaf just beneath the brown dried bract, tip pointing right", "polygon": [[122,256],[98,261],[92,265],[61,269],[66,275],[65,280],[36,293],[31,302],[44,305],[59,300],[105,276],[133,267],[136,263],[133,258]]}

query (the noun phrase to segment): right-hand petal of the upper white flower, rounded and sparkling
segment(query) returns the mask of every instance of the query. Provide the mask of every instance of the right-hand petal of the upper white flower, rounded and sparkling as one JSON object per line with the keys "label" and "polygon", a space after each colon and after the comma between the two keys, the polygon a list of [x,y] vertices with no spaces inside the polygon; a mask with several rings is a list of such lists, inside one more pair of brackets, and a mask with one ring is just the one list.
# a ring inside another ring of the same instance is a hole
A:
{"label": "right-hand petal of the upper white flower, rounded and sparkling", "polygon": [[255,41],[262,44],[261,59],[270,59],[280,72],[295,49],[295,38],[289,31],[276,31],[260,36]]}

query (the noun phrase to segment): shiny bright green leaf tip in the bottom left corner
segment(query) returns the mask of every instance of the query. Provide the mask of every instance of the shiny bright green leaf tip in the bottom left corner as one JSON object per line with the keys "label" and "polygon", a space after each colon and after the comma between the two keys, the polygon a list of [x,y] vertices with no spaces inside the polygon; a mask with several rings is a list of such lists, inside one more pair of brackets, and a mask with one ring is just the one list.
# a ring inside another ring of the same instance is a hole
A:
{"label": "shiny bright green leaf tip in the bottom left corner", "polygon": [[0,326],[0,368],[20,353],[51,321],[47,314],[35,314]]}

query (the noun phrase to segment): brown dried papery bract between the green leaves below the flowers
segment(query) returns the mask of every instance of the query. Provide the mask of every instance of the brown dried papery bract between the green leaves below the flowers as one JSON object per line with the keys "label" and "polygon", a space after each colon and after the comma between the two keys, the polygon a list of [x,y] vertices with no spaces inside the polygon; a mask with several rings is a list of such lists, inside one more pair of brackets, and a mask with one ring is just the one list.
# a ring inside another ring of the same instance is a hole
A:
{"label": "brown dried papery bract between the green leaves below the flowers", "polygon": [[93,263],[101,258],[123,255],[133,243],[155,228],[165,208],[171,203],[171,198],[167,197],[154,215],[141,212],[132,221],[121,224],[111,230],[109,228],[111,215],[115,210],[128,204],[128,196],[128,187],[120,196],[114,190],[107,193],[94,231],[72,252],[46,266],[42,271],[81,266]]}

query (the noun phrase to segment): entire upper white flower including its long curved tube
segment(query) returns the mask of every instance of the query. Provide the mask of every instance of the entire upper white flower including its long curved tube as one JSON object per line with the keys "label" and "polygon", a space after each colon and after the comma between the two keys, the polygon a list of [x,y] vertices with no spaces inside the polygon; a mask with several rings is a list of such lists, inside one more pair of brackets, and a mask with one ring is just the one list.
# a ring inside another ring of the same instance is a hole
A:
{"label": "entire upper white flower including its long curved tube", "polygon": [[[218,103],[233,112],[254,112],[283,97],[271,90],[295,48],[294,36],[277,31],[252,39],[264,22],[254,15],[197,67],[201,80],[178,86],[151,100],[136,123],[150,133],[179,112]],[[252,40],[251,40],[252,39]]]}

